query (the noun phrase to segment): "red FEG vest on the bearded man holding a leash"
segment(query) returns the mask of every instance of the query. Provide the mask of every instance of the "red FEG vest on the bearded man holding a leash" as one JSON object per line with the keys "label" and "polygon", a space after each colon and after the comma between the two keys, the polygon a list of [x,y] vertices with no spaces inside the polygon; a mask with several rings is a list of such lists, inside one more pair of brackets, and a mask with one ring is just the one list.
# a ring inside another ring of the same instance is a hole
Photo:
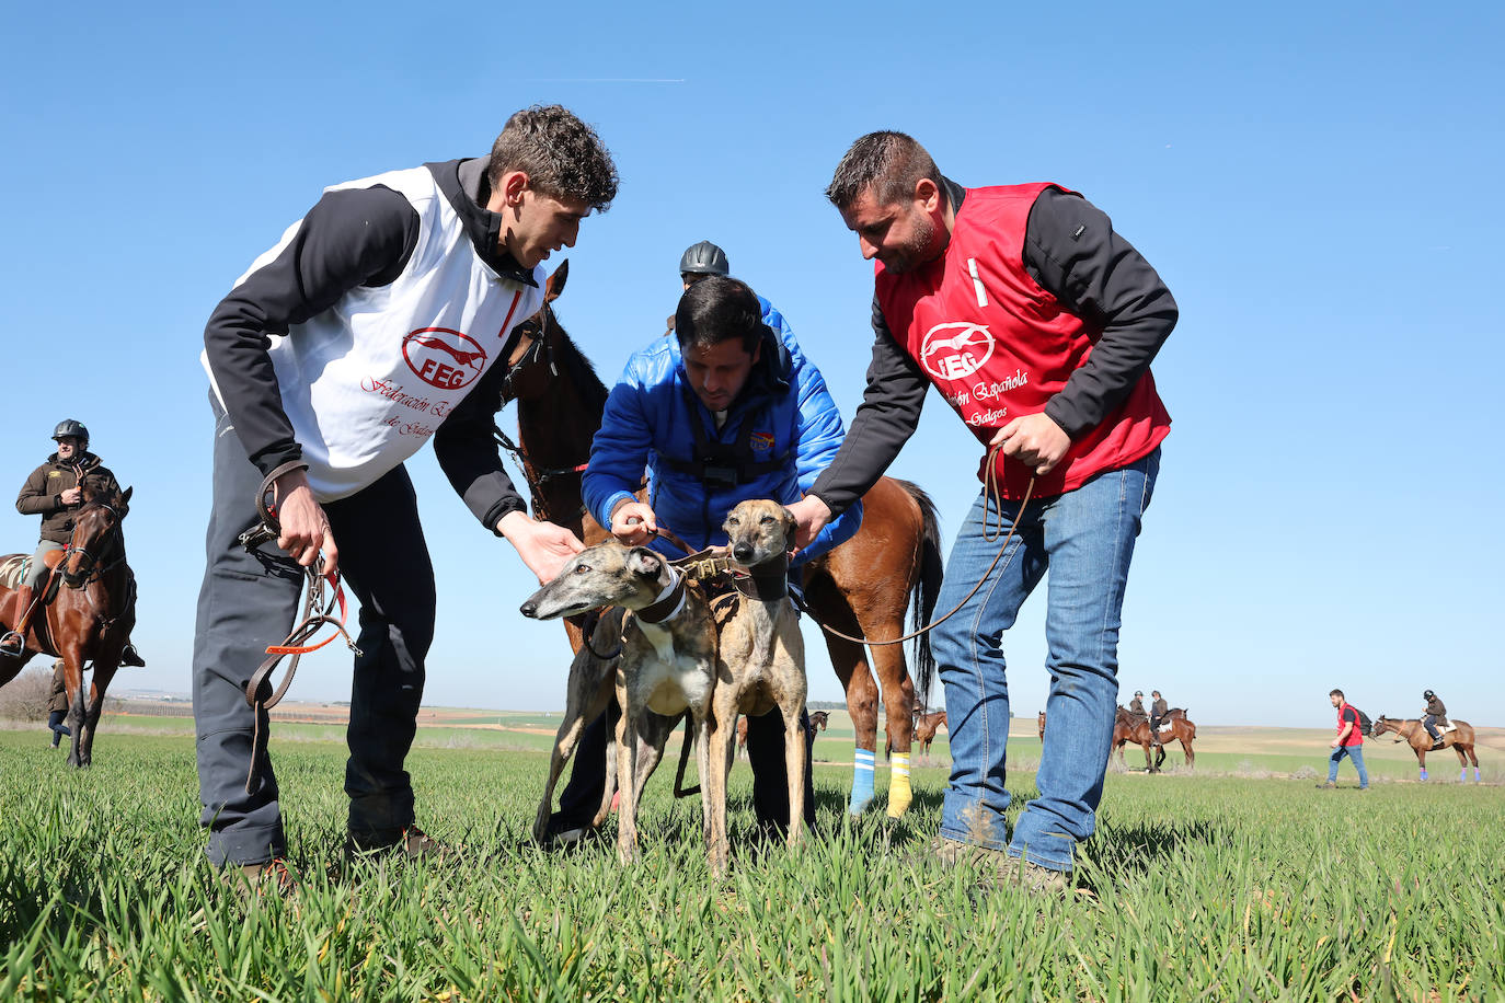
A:
{"label": "red FEG vest on the bearded man holding a leash", "polygon": [[[1025,271],[1029,209],[1050,186],[968,188],[938,260],[905,274],[882,263],[876,269],[877,302],[894,340],[984,445],[1014,418],[1044,411],[1091,358],[1100,334]],[[1145,370],[1118,409],[1035,480],[1034,496],[1061,495],[1127,466],[1169,430],[1171,417]],[[986,463],[984,454],[980,480]],[[1032,471],[1002,454],[998,465],[1004,498],[1023,498]]]}

